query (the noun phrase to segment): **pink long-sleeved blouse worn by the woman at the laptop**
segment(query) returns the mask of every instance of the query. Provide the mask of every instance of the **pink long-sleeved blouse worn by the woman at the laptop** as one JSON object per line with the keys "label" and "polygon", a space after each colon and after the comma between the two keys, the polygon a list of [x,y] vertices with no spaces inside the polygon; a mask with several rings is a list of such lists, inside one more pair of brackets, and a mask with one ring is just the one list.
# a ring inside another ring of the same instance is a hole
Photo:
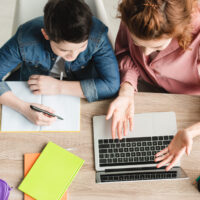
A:
{"label": "pink long-sleeved blouse worn by the woman at the laptop", "polygon": [[138,78],[142,78],[170,93],[200,95],[200,12],[194,19],[189,50],[183,51],[178,41],[172,39],[150,63],[133,43],[127,26],[121,23],[115,44],[121,83],[129,82],[137,91]]}

